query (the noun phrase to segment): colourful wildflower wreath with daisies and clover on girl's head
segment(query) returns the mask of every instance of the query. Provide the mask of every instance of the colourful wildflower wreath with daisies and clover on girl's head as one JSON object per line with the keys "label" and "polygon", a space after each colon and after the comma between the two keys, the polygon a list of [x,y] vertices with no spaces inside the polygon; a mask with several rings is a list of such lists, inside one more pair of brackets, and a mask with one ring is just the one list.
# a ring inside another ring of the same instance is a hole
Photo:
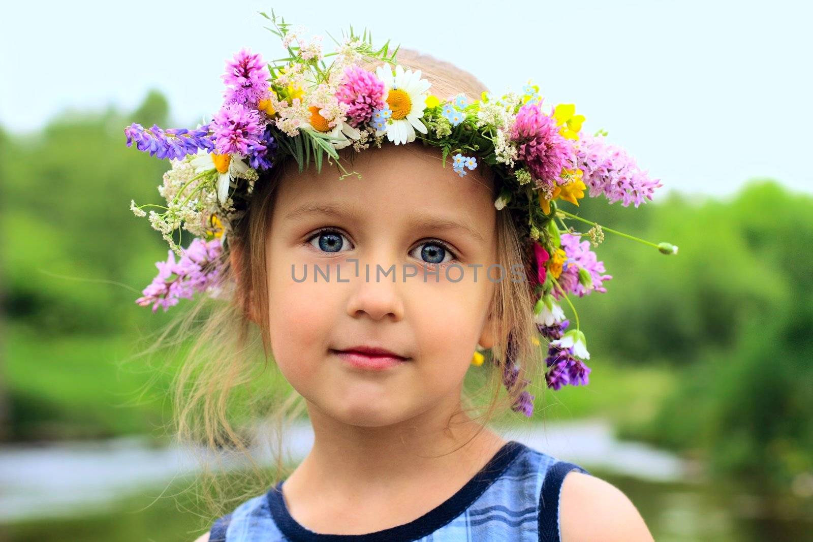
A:
{"label": "colourful wildflower wreath with daisies and clover on girl's head", "polygon": [[[291,28],[273,11],[260,15],[271,21],[268,29],[280,37],[288,56],[265,63],[250,50],[235,54],[226,63],[223,106],[210,122],[194,129],[124,128],[128,146],[134,142],[138,150],[169,158],[172,165],[158,187],[166,206],[131,202],[137,216],[147,215],[145,207],[162,210],[150,210],[149,219],[171,248],[167,261],[155,264],[159,273],[137,303],[155,312],[198,292],[214,296],[220,290],[224,248],[233,225],[246,213],[254,184],[286,157],[293,157],[300,171],[311,160],[321,171],[327,156],[342,179],[358,173],[341,165],[337,150],[352,145],[360,152],[380,147],[385,138],[395,145],[419,139],[441,149],[443,167],[451,158],[459,176],[482,163],[498,176],[494,206],[521,220],[539,332],[533,340],[541,345],[541,337],[548,347],[546,385],[558,390],[588,384],[590,368],[584,360],[589,352],[570,297],[606,292],[603,283],[612,277],[590,245],[598,246],[605,231],[627,235],[559,208],[559,202],[579,206],[589,191],[590,197],[603,195],[610,203],[637,207],[652,199],[659,180],[650,179],[625,150],[607,143],[606,132],[583,132],[585,117],[576,115],[572,104],[543,104],[530,81],[521,93],[499,98],[487,92],[473,102],[463,94],[436,97],[420,70],[396,63],[398,48],[389,54],[387,41],[374,49],[366,30],[358,36],[350,27],[341,42],[333,40],[337,50],[324,54],[321,37],[307,41],[302,28]],[[367,71],[363,65],[371,61],[383,65]],[[589,225],[589,231],[567,227],[569,219]],[[174,241],[177,230],[180,242],[181,228],[194,236],[185,249]],[[637,241],[663,254],[677,252],[668,243]],[[560,301],[572,310],[575,327]],[[512,409],[531,416],[535,397],[525,389],[530,382],[520,377],[511,348],[505,357],[502,381],[514,392]],[[472,364],[484,359],[478,345]]]}

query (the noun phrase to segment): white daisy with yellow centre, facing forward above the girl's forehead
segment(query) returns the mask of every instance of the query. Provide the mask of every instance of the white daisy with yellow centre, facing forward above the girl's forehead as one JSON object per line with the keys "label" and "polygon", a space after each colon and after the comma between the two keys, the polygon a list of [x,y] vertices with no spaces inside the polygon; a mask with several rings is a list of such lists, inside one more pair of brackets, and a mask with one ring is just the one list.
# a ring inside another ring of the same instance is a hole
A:
{"label": "white daisy with yellow centre, facing forward above the girl's forehead", "polygon": [[376,68],[376,76],[384,82],[385,100],[393,111],[386,128],[376,130],[376,136],[386,133],[387,139],[398,145],[415,141],[415,130],[426,133],[426,126],[420,118],[426,108],[426,91],[432,84],[420,78],[420,70],[404,72],[398,64],[393,75],[389,66],[380,66]]}

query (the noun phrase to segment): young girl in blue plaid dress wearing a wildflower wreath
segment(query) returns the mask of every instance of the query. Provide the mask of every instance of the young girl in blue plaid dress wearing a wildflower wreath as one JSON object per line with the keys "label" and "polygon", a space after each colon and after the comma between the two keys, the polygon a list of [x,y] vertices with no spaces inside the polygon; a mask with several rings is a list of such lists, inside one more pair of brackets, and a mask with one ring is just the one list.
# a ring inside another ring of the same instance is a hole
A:
{"label": "young girl in blue plaid dress wearing a wildflower wreath", "polygon": [[[304,400],[315,436],[289,475],[278,470],[196,542],[652,540],[610,483],[489,428],[506,411],[532,414],[528,388],[539,381],[587,383],[584,336],[565,331],[559,301],[602,291],[610,277],[572,252],[563,237],[575,234],[557,226],[554,202],[584,195],[581,177],[567,174],[579,157],[565,146],[580,119],[556,122],[552,112],[541,121],[554,123],[547,139],[523,137],[517,127],[533,119],[516,111],[541,104],[532,87],[528,99],[503,97],[491,110],[511,125],[486,124],[476,78],[405,50],[393,70],[386,46],[372,50],[352,34],[337,75],[326,76],[318,42],[270,19],[289,47],[283,69],[266,72],[259,55],[241,51],[211,124],[127,130],[128,143],[174,158],[159,187],[166,212],[150,221],[182,254],[159,262],[138,302],[167,310],[208,291],[221,303],[180,373],[180,436],[203,427],[210,444],[246,449],[229,422],[229,392],[241,384],[272,417],[274,394],[257,385],[250,361],[253,336],[292,401]],[[551,162],[556,153],[567,162]],[[352,171],[340,165],[337,179],[323,154]],[[514,202],[506,167],[520,180]],[[524,178],[542,189],[523,192]],[[198,236],[185,250],[172,237],[180,222]],[[469,371],[481,373],[474,394],[463,386]]]}

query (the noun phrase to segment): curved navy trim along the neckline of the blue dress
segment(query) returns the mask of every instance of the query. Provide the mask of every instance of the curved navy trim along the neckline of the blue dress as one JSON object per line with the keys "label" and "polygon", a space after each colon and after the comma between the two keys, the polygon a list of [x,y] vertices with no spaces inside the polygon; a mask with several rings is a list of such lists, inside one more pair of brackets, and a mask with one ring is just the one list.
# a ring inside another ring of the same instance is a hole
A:
{"label": "curved navy trim along the neckline of the blue dress", "polygon": [[321,534],[302,527],[289,513],[288,507],[285,505],[285,498],[282,495],[282,483],[284,480],[276,483],[276,486],[267,493],[268,504],[271,507],[271,513],[276,522],[276,526],[280,531],[294,542],[374,542],[380,540],[387,540],[388,542],[408,542],[409,540],[417,540],[423,536],[437,531],[443,527],[476,501],[489,486],[494,483],[500,475],[511,466],[516,457],[520,456],[527,447],[516,441],[509,440],[502,448],[489,460],[488,463],[477,472],[472,479],[470,479],[463,488],[450,496],[446,501],[434,509],[429,510],[420,518],[413,519],[411,522],[398,525],[397,527],[390,527],[383,531],[376,531],[363,535],[328,535]]}

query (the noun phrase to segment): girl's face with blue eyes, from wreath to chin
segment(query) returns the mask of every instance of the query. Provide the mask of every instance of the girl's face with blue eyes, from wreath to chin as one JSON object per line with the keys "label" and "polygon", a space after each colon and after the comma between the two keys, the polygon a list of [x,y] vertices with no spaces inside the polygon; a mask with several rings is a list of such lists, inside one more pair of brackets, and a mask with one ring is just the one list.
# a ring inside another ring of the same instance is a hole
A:
{"label": "girl's face with blue eyes, from wreath to chin", "polygon": [[[272,351],[309,405],[341,423],[454,409],[477,343],[492,344],[491,181],[485,166],[460,177],[439,158],[385,144],[355,157],[361,179],[324,163],[320,174],[293,164],[279,181],[266,240]],[[408,359],[374,371],[337,353],[360,345]]]}

